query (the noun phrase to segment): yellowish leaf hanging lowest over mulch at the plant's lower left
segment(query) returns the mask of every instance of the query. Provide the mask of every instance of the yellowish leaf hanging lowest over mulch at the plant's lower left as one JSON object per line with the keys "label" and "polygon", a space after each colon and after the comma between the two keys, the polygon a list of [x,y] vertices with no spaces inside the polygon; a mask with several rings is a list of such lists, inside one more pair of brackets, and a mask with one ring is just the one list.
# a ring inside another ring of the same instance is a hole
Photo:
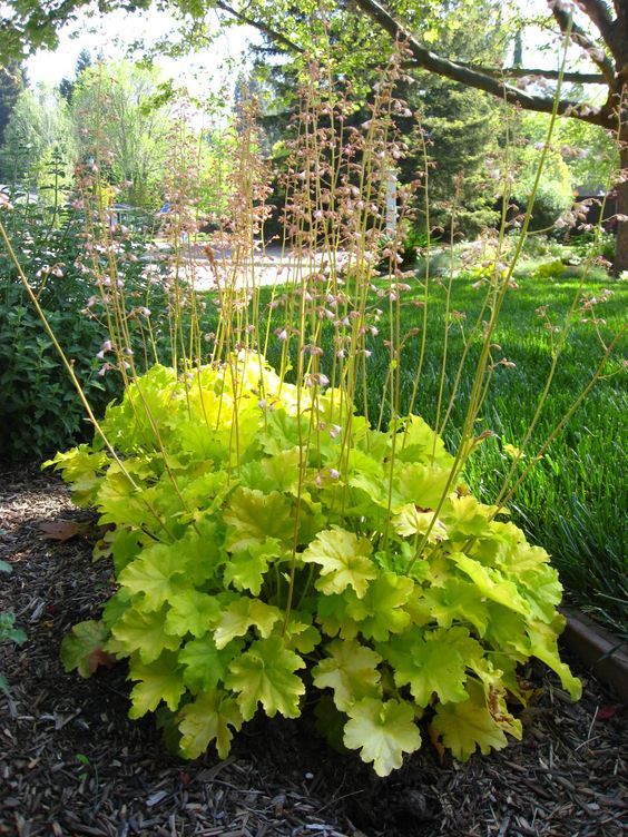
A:
{"label": "yellowish leaf hanging lowest over mulch at the plant's lower left", "polygon": [[199,695],[180,710],[179,718],[180,754],[190,759],[202,756],[214,740],[218,756],[227,758],[233,739],[229,727],[239,730],[243,720],[235,700],[220,689]]}

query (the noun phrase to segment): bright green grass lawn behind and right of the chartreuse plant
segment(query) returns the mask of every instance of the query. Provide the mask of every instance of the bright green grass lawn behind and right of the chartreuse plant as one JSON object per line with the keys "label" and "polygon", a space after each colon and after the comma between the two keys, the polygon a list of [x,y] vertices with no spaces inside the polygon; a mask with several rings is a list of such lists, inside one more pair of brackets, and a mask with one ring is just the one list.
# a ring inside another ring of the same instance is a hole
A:
{"label": "bright green grass lawn behind and right of the chartreuse plant", "polygon": [[[553,323],[561,324],[569,311],[580,277],[578,268],[566,268],[558,277],[542,277],[524,268],[518,275],[519,288],[507,296],[495,341],[502,356],[514,367],[498,365],[491,388],[478,422],[478,433],[490,430],[494,436],[478,449],[467,467],[473,492],[484,502],[493,502],[510,465],[503,444],[518,445],[534,414],[551,364],[550,334],[536,314],[548,306]],[[469,332],[480,309],[481,292],[464,274],[453,280],[451,308],[465,313]],[[601,270],[586,280],[586,293],[599,296],[610,287],[614,295],[600,306],[604,335],[616,333],[626,307],[626,291]],[[268,294],[263,291],[263,298]],[[419,326],[422,311],[412,303],[422,296],[421,280],[401,309],[402,333]],[[373,298],[381,308],[382,301]],[[444,334],[445,289],[431,284],[429,304],[428,353],[414,412],[435,422],[435,405],[441,371]],[[602,348],[591,324],[575,317],[567,345],[561,354],[550,396],[530,443],[530,453],[544,442],[595,371]],[[381,335],[387,332],[386,313],[380,323],[380,336],[371,339],[372,355],[366,364],[366,392],[370,416],[377,416],[382,386],[386,377],[389,354]],[[402,357],[401,413],[408,411],[416,363],[420,335],[408,341]],[[449,336],[449,364],[445,395],[451,386],[463,349],[460,327],[453,325]],[[470,351],[461,385],[453,405],[445,439],[453,447],[463,421],[474,371],[474,351]],[[479,351],[479,342],[478,342]],[[331,346],[325,352],[328,357]],[[475,352],[477,354],[477,352]],[[277,364],[278,348],[271,347],[271,363]],[[328,361],[327,361],[328,363]],[[619,360],[611,360],[607,376],[596,384],[588,400],[572,416],[563,433],[550,445],[528,480],[509,503],[512,520],[522,526],[532,542],[552,555],[565,587],[582,609],[592,612],[621,636],[628,636],[628,583],[624,544],[626,504],[626,380]],[[447,404],[448,398],[445,398]],[[387,416],[384,416],[384,420]]]}

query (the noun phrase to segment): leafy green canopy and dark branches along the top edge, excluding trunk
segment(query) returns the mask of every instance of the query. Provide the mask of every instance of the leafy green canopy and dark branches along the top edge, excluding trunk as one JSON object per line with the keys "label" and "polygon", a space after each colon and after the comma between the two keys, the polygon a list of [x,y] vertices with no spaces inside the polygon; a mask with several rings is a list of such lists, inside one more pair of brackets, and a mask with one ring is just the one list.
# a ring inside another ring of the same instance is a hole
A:
{"label": "leafy green canopy and dark branches along the top edge, excluding trunk", "polygon": [[[17,58],[24,50],[38,47],[53,47],[60,27],[87,4],[87,0],[63,0],[63,2],[40,3],[12,0],[7,3],[10,13],[0,24],[2,33],[2,52],[0,59],[4,61]],[[130,11],[146,9],[150,0],[114,0],[105,4],[104,9],[120,8]],[[302,19],[312,12],[311,4],[273,3],[265,0],[239,3],[223,0],[207,0],[188,2],[188,0],[173,0],[167,6],[179,13],[184,20],[203,21],[209,9],[216,9],[226,18],[258,29],[279,49],[292,53],[310,52],[314,49],[311,41],[313,29],[311,26],[300,26]],[[458,81],[464,86],[484,90],[502,100],[517,104],[524,109],[550,114],[552,97],[528,93],[506,81],[508,78],[543,77],[556,79],[559,72],[543,68],[521,67],[487,67],[464,60],[452,60],[433,51],[414,32],[416,21],[415,3],[412,2],[379,2],[377,0],[352,0],[335,9],[335,13],[349,14],[354,8],[369,17],[380,30],[387,32],[394,39],[402,39],[411,53],[408,68],[416,68]],[[598,72],[569,71],[562,73],[565,81],[575,83],[606,85],[608,95],[602,107],[585,106],[576,100],[562,99],[558,105],[560,114],[572,116],[593,125],[601,125],[611,129],[617,128],[617,111],[620,106],[622,89],[628,80],[628,1],[617,0],[614,11],[602,0],[586,0],[578,4],[580,11],[588,18],[588,22],[597,30],[590,35],[587,28],[572,21],[575,7],[563,0],[551,0],[548,6],[559,30],[570,32],[575,43],[580,45],[590,61],[597,66]],[[422,14],[442,16],[442,9],[422,9]],[[451,14],[455,14],[453,9]],[[409,22],[412,21],[412,22]],[[313,21],[311,20],[310,23]]]}

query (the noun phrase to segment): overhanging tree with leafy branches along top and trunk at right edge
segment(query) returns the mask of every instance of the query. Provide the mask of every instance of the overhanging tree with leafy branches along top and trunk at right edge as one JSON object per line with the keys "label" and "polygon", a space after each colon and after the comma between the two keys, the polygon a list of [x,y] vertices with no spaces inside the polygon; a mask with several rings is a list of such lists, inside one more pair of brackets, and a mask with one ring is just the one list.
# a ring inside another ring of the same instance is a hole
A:
{"label": "overhanging tree with leafy branches along top and trunk at right edge", "polygon": [[[32,0],[9,0],[9,13],[0,23],[0,60],[24,55],[35,47],[55,43],[57,29],[67,21],[87,0],[52,0],[45,6]],[[111,0],[107,8],[146,8],[149,0]],[[435,0],[352,0],[351,4],[331,3],[327,0],[173,0],[168,3],[178,9],[183,17],[194,21],[194,42],[203,40],[203,19],[208,9],[219,10],[229,19],[256,26],[272,37],[283,50],[303,53],[321,48],[317,35],[321,29],[336,29],[340,37],[345,33],[346,50],[344,63],[359,61],[364,56],[381,58],[381,39],[373,32],[385,32],[390,38],[402,37],[412,58],[409,70],[418,69],[443,76],[465,87],[483,90],[502,101],[519,105],[526,110],[551,114],[553,97],[551,89],[527,91],[507,79],[524,76],[539,76],[556,79],[556,70],[511,67],[488,63],[477,65],[458,57],[441,55],[431,46],[436,40],[441,26],[455,24],[461,10],[474,6],[471,0],[435,2]],[[507,7],[507,3],[494,3]],[[595,72],[571,71],[563,76],[568,82],[580,85],[597,83],[605,91],[601,106],[586,101],[578,95],[563,97],[558,102],[558,112],[575,119],[599,126],[618,136],[621,169],[628,169],[628,0],[580,0],[577,4],[566,0],[550,0],[550,16],[561,33],[570,32],[570,38],[586,51]],[[522,7],[509,3],[509,9],[518,12]],[[352,10],[360,12],[349,23]],[[325,13],[323,13],[325,12]],[[571,16],[573,14],[573,23]],[[521,17],[519,14],[519,17]],[[305,18],[305,22],[304,22]],[[517,27],[520,29],[520,26]],[[581,88],[587,89],[587,88]],[[618,233],[616,268],[628,269],[628,178],[618,177]]]}

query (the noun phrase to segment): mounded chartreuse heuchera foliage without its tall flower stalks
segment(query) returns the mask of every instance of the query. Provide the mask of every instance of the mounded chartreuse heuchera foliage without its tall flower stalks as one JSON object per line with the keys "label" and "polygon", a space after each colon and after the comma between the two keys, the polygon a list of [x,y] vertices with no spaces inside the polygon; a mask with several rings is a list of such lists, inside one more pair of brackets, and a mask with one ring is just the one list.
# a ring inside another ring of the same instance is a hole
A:
{"label": "mounded chartreuse heuchera foliage without its tall flower stalks", "polygon": [[183,378],[155,366],[102,430],[117,459],[97,440],[52,460],[109,526],[96,558],[117,579],[62,661],[87,677],[105,652],[128,658],[130,717],[167,708],[184,757],[214,742],[225,758],[259,707],[296,718],[313,690],[386,776],[420,719],[460,760],[520,738],[507,698],[523,702],[531,657],[580,695],[548,554],[451,484],[420,417],[374,431],[338,390],[249,353]]}

